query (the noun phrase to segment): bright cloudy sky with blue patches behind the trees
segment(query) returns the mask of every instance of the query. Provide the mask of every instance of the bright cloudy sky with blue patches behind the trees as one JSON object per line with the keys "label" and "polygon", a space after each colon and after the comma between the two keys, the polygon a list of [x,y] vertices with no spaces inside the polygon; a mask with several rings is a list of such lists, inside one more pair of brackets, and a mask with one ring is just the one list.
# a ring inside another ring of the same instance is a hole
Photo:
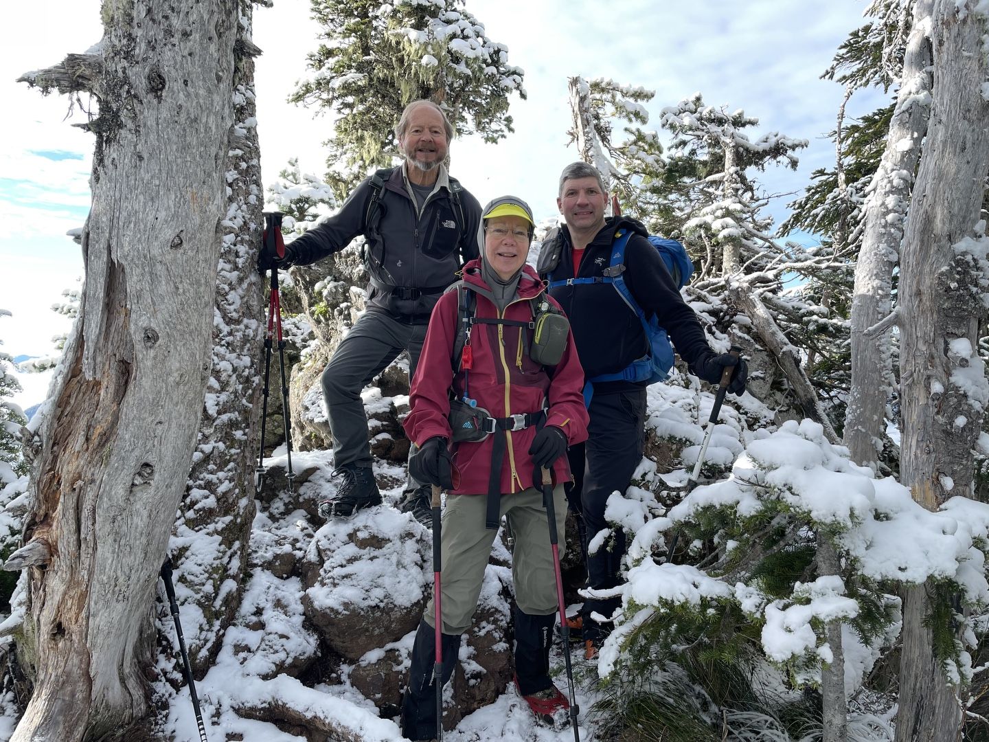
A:
{"label": "bright cloudy sky with blue patches behind the trees", "polygon": [[[513,193],[537,218],[556,213],[557,177],[576,158],[567,146],[570,126],[567,78],[610,77],[656,91],[647,105],[654,121],[664,106],[701,92],[706,103],[742,108],[760,119],[754,137],[778,131],[810,139],[797,172],[761,176],[769,192],[803,187],[813,169],[830,166],[834,150],[825,135],[835,126],[843,90],[820,80],[836,47],[863,22],[860,0],[695,0],[692,3],[623,0],[468,0],[489,37],[508,46],[509,62],[525,70],[527,101],[513,100],[515,134],[497,144],[478,138],[451,146],[452,172],[482,201]],[[289,157],[321,174],[327,139],[325,117],[285,102],[306,75],[305,55],[315,47],[308,0],[275,0],[254,11],[258,132],[265,183]],[[79,248],[65,232],[81,227],[89,205],[92,137],[73,124],[84,121],[58,95],[41,96],[14,80],[30,69],[84,51],[102,36],[98,0],[34,0],[7,3],[0,20],[8,29],[0,45],[0,95],[7,103],[5,147],[0,151],[0,308],[14,318],[0,323],[4,350],[45,354],[48,337],[65,322],[48,311],[82,272]],[[850,113],[880,105],[878,94],[859,93]],[[792,197],[771,207],[778,218]]]}

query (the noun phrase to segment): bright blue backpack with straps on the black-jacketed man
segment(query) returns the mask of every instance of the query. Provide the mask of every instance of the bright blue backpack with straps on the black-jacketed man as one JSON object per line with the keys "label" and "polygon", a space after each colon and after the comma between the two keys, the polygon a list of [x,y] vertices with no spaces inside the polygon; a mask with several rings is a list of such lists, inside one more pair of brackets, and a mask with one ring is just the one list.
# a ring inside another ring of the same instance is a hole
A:
{"label": "bright blue backpack with straps on the black-jacketed man", "polygon": [[[646,313],[632,298],[632,292],[625,284],[625,247],[631,232],[619,230],[615,235],[615,240],[611,244],[611,262],[602,273],[603,277],[594,276],[590,278],[568,278],[562,281],[554,281],[553,274],[547,274],[549,287],[584,284],[584,283],[610,283],[615,287],[615,291],[621,296],[628,308],[632,310],[642,328],[646,332],[646,339],[649,341],[649,350],[646,355],[638,360],[632,361],[621,371],[612,374],[601,374],[592,379],[587,379],[588,384],[603,381],[633,381],[655,384],[664,381],[670,375],[670,369],[674,367],[674,348],[670,344],[667,330],[661,325],[656,315],[647,318]],[[675,239],[649,235],[649,242],[659,251],[663,262],[666,264],[670,275],[673,276],[677,289],[683,288],[693,274],[693,263],[683,249],[683,245]],[[588,395],[584,395],[588,397]],[[589,401],[589,400],[588,400]]]}

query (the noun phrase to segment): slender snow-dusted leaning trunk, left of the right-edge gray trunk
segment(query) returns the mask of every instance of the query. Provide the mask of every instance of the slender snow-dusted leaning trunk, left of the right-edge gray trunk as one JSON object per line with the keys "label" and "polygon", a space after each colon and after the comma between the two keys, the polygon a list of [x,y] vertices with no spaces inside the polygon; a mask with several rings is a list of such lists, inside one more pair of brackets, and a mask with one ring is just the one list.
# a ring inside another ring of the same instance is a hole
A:
{"label": "slender snow-dusted leaning trunk, left of the right-edge gray trunk", "polygon": [[852,460],[879,470],[890,374],[889,330],[870,333],[890,314],[893,267],[900,251],[921,141],[931,114],[931,39],[934,0],[918,0],[907,41],[896,108],[862,218],[862,243],[852,300],[852,388],[845,437]]}

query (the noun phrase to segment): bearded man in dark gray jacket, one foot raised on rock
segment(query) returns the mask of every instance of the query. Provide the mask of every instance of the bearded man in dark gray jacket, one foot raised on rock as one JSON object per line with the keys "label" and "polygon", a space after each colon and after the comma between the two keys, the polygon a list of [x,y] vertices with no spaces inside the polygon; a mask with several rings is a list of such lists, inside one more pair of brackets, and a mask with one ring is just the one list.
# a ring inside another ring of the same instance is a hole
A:
{"label": "bearded man in dark gray jacket, one foot raised on rock", "polygon": [[[373,178],[365,178],[336,214],[287,244],[278,263],[309,265],[342,250],[359,234],[366,240],[367,311],[322,374],[333,434],[333,474],[341,477],[335,496],[325,492],[319,497],[325,517],[349,517],[381,504],[361,390],[403,350],[408,351],[411,383],[432,308],[457,279],[461,265],[478,256],[481,204],[450,177],[444,164],[453,134],[435,103],[409,103],[395,128],[405,162],[387,179],[381,176],[375,208]],[[270,268],[271,260],[262,253],[258,267]],[[429,499],[429,485],[409,478],[402,510],[431,527]]]}

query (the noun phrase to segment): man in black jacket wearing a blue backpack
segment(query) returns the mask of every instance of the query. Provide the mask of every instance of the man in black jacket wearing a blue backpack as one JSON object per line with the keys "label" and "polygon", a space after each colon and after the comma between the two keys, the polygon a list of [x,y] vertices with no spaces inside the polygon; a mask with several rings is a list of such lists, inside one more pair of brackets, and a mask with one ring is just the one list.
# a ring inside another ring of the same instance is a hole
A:
{"label": "man in black jacket wearing a blue backpack", "polygon": [[[568,502],[578,517],[587,587],[593,591],[618,584],[624,533],[618,529],[610,547],[593,553],[588,542],[607,527],[608,497],[625,493],[642,460],[646,387],[666,378],[673,366],[668,336],[690,372],[706,382],[717,384],[725,368],[734,366],[728,391],[741,395],[748,375],[743,359],[711,349],[680,296],[679,286],[692,271],[682,246],[650,238],[635,220],[605,219],[607,203],[595,167],[586,162],[565,167],[557,198],[565,225],[547,236],[537,266],[570,318],[584,367],[590,423],[587,441],[568,453],[575,480]],[[607,632],[591,615],[608,618],[619,603],[618,598],[586,600],[580,616],[570,621],[583,631],[587,659],[596,655]]]}

